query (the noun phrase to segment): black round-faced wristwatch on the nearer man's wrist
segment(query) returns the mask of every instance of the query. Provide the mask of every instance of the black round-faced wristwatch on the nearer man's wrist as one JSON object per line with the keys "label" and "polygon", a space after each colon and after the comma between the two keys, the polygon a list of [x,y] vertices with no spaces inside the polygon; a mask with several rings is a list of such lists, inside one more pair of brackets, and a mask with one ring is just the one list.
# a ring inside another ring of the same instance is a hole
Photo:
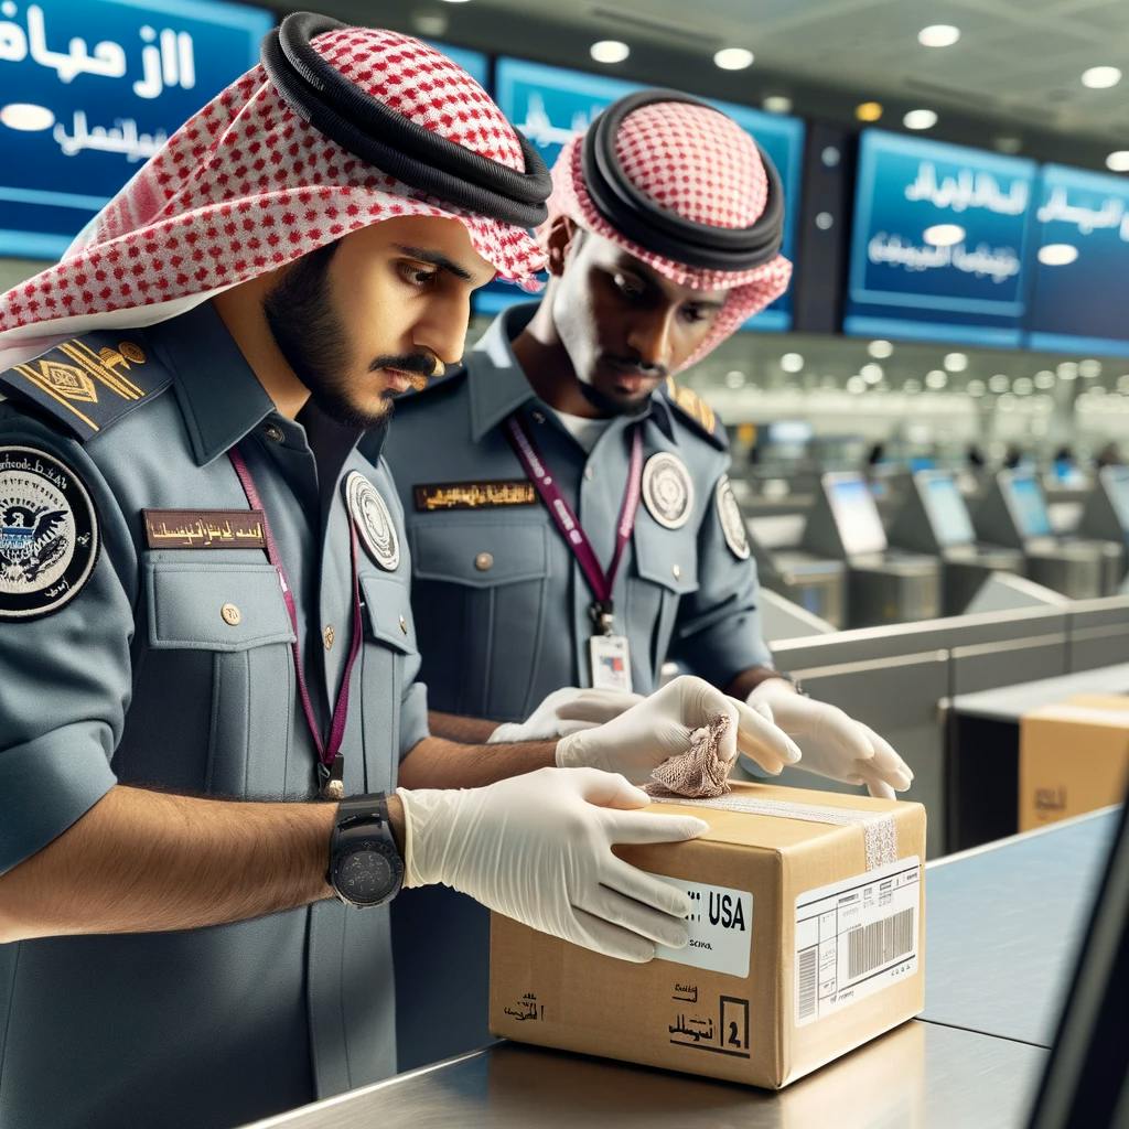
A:
{"label": "black round-faced wristwatch on the nearer man's wrist", "polygon": [[384,905],[400,893],[404,860],[388,822],[383,791],[350,796],[338,806],[326,882],[347,905]]}

